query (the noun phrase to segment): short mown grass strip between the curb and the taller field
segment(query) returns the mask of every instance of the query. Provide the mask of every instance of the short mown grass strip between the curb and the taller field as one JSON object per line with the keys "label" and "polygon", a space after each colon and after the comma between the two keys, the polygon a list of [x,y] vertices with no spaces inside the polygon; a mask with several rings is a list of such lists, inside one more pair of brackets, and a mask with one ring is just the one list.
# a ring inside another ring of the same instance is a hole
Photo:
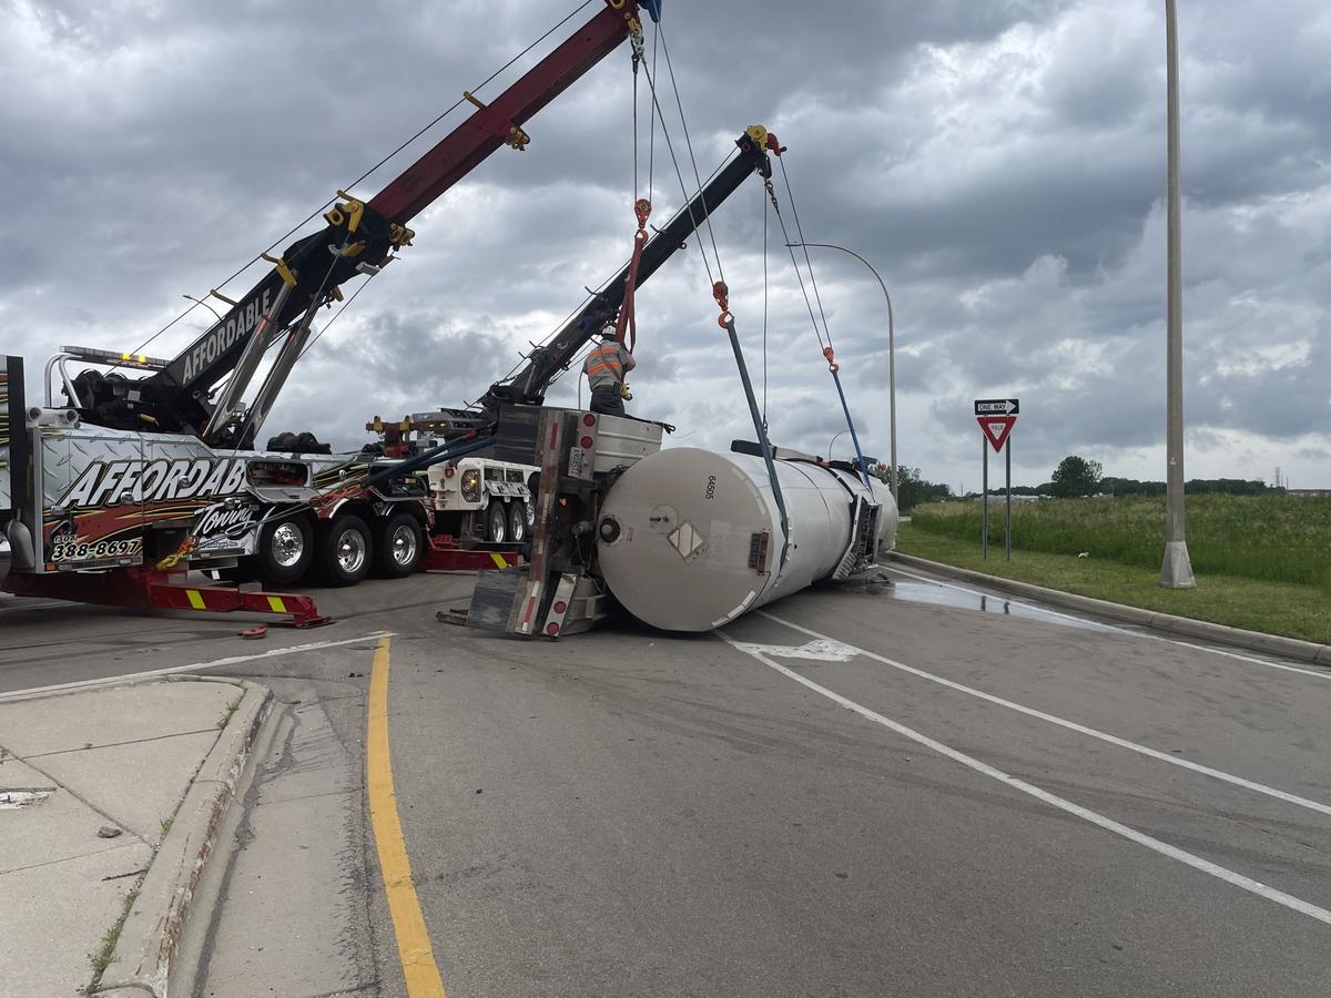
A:
{"label": "short mown grass strip between the curb and the taller field", "polygon": [[[1189,547],[1191,548],[1191,542]],[[974,538],[964,540],[924,530],[912,519],[910,523],[901,524],[897,550],[932,562],[1081,596],[1331,644],[1331,596],[1322,587],[1198,572],[1195,589],[1166,589],[1158,584],[1163,544],[1150,568],[1095,555],[1077,558],[1017,548],[1009,563],[1004,560],[1000,534],[997,542],[989,546],[989,560],[984,562],[980,558],[978,522]],[[1193,564],[1195,567],[1195,558]]]}

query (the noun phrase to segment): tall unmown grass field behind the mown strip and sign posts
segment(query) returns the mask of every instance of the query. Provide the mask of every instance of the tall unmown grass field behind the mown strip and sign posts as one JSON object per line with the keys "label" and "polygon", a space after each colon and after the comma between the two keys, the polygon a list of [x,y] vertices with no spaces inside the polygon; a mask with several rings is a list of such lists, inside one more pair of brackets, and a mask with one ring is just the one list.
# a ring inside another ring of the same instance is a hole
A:
{"label": "tall unmown grass field behind the mown strip and sign posts", "polygon": [[[1002,548],[1002,503],[989,504],[989,543]],[[980,503],[916,507],[916,528],[980,540]],[[1014,503],[1014,550],[1086,552],[1097,562],[1159,570],[1163,499],[1042,499]],[[1193,571],[1314,585],[1331,595],[1331,498],[1198,495],[1187,499]]]}

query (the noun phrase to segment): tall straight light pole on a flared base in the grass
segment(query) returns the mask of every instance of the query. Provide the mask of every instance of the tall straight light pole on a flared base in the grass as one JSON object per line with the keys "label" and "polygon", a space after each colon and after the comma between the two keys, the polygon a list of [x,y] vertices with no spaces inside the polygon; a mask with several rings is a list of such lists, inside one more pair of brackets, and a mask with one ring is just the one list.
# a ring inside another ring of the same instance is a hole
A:
{"label": "tall straight light pole on a flared base in the grass", "polygon": [[1183,224],[1178,192],[1178,17],[1174,0],[1165,0],[1165,51],[1169,63],[1169,266],[1166,275],[1166,389],[1165,389],[1165,563],[1161,585],[1186,589],[1197,585],[1187,556],[1183,515]]}

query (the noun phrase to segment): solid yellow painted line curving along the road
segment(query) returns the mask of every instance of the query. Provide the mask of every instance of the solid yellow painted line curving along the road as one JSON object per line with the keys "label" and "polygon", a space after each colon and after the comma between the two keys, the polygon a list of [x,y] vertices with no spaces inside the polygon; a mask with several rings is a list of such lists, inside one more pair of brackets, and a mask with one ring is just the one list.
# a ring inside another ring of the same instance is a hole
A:
{"label": "solid yellow painted line curving along the road", "polygon": [[393,790],[393,761],[389,756],[389,637],[374,649],[370,673],[370,719],[366,737],[366,772],[370,793],[370,822],[379,852],[383,893],[389,898],[398,957],[410,998],[447,998],[439,967],[430,949],[430,934],[421,914],[421,900],[411,884],[407,844],[402,837],[398,802]]}

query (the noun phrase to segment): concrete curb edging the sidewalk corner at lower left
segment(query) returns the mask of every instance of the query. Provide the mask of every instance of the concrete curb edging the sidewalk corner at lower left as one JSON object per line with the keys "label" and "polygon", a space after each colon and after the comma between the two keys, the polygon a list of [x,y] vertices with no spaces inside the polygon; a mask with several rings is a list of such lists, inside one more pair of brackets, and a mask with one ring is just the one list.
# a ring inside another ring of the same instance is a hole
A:
{"label": "concrete curb edging the sidewalk corner at lower left", "polygon": [[170,681],[230,683],[242,689],[241,703],[200,765],[176,810],[170,830],[153,856],[120,931],[114,962],[96,991],[98,995],[150,994],[166,998],[170,961],[194,890],[272,707],[268,688],[245,680],[172,676]]}

